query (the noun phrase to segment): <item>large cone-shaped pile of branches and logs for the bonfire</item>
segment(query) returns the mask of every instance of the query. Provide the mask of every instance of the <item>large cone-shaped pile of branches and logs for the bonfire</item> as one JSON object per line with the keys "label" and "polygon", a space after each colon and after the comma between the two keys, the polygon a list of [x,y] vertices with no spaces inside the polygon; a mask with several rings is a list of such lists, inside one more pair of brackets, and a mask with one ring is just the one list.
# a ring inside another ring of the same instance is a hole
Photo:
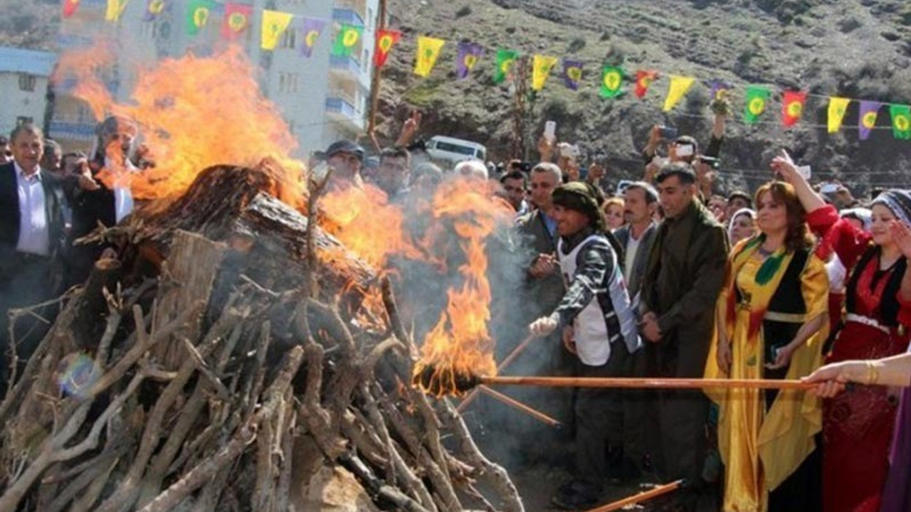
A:
{"label": "large cone-shaped pile of branches and logs for the bonfire", "polygon": [[[0,405],[0,512],[523,510],[453,407],[409,385],[389,283],[275,176],[206,169],[97,231],[120,258],[68,292]],[[372,287],[379,327],[355,321]]]}

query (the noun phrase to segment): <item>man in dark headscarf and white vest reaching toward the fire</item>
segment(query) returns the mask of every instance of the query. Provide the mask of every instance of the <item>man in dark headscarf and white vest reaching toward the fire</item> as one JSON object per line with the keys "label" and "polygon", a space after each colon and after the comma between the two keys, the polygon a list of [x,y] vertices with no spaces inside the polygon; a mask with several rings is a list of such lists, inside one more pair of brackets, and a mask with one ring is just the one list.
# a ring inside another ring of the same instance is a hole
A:
{"label": "man in dark headscarf and white vest reaching toward the fire", "polygon": [[[549,316],[530,325],[533,333],[562,328],[563,343],[575,354],[579,377],[621,376],[630,353],[640,346],[636,319],[619,261],[619,242],[606,229],[598,189],[573,181],[553,192],[559,234],[557,255],[567,292]],[[578,389],[576,467],[553,503],[567,509],[595,505],[607,474],[608,443],[620,445],[623,408],[615,391]]]}

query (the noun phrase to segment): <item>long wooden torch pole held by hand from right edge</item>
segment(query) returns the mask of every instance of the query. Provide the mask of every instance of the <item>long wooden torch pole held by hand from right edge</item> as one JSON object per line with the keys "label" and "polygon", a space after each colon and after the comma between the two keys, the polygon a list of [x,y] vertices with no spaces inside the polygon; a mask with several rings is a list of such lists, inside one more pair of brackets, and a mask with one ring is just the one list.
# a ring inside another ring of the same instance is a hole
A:
{"label": "long wooden torch pole held by hand from right edge", "polygon": [[542,385],[549,387],[618,387],[701,389],[722,387],[732,389],[798,389],[815,386],[798,380],[773,379],[640,379],[599,377],[480,377],[480,384],[487,385]]}

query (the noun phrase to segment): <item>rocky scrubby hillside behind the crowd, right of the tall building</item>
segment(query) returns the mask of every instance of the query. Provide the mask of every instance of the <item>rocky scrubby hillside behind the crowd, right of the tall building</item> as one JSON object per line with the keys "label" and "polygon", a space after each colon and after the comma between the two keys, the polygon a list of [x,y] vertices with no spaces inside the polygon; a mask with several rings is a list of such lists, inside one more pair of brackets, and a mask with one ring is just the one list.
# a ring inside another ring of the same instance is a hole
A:
{"label": "rocky scrubby hillside behind the crowd, right of the tall building", "polygon": [[[544,122],[558,123],[558,137],[576,141],[589,157],[606,156],[619,177],[641,172],[638,149],[655,123],[708,138],[708,89],[694,86],[669,115],[661,112],[667,80],[656,82],[645,100],[630,94],[616,100],[598,95],[601,62],[622,63],[634,73],[654,68],[665,74],[722,78],[734,84],[736,115],[722,148],[719,189],[754,187],[767,179],[777,148],[791,148],[814,167],[819,179],[838,178],[864,194],[870,186],[911,187],[911,142],[877,129],[858,141],[857,104],[845,127],[826,133],[827,99],[810,97],[796,128],[780,124],[773,99],[767,124],[742,123],[748,84],[802,87],[811,94],[911,102],[911,3],[906,0],[391,0],[392,25],[405,33],[385,71],[386,114],[401,118],[403,103],[428,114],[425,131],[486,142],[496,158],[507,158],[512,97],[491,75],[497,47],[573,56],[585,61],[578,92],[551,77],[529,103],[528,139],[533,145]],[[429,78],[415,77],[415,38],[449,41]],[[470,79],[455,81],[455,42],[487,48]],[[880,125],[889,126],[884,108]],[[395,121],[398,122],[397,120]],[[389,127],[390,129],[392,127]],[[533,156],[531,151],[529,155]]]}

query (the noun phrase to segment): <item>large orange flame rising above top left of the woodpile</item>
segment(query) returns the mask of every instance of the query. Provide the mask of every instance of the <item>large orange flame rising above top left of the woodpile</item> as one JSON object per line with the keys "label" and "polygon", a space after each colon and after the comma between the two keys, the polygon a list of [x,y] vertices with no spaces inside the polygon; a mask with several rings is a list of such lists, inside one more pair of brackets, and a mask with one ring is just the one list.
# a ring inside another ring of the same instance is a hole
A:
{"label": "large orange flame rising above top left of the woodpile", "polygon": [[134,196],[172,197],[188,189],[202,169],[216,164],[252,167],[268,157],[279,162],[284,173],[280,199],[302,206],[303,166],[291,159],[296,140],[278,108],[261,96],[254,68],[239,46],[215,56],[188,55],[138,69],[126,105],[115,103],[98,77],[97,69],[113,55],[105,48],[64,54],[56,80],[75,78],[72,94],[87,102],[97,120],[115,114],[138,124],[157,165],[130,177]]}

